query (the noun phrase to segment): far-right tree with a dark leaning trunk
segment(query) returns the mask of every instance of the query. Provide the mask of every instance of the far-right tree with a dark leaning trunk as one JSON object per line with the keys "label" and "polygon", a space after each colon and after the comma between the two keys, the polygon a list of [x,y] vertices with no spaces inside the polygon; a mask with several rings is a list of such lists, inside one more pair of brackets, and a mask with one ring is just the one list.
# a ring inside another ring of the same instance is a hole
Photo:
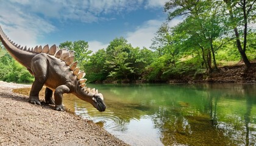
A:
{"label": "far-right tree with a dark leaning trunk", "polygon": [[[236,37],[236,47],[238,48],[244,64],[250,68],[251,63],[246,55],[248,24],[255,21],[256,0],[224,0],[229,10],[230,24],[233,27]],[[243,28],[243,38],[238,28]]]}

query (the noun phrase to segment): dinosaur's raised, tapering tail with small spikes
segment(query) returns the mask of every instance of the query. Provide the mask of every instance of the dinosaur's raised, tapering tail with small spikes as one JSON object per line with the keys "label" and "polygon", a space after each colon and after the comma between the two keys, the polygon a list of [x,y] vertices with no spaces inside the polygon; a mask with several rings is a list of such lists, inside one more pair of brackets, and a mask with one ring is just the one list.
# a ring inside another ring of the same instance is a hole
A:
{"label": "dinosaur's raised, tapering tail with small spikes", "polygon": [[14,44],[10,42],[10,40],[7,38],[5,33],[3,32],[1,26],[0,26],[0,40],[2,41],[2,44],[4,47],[8,50],[10,55],[12,55],[15,60],[17,60],[19,63],[23,64],[26,68],[30,69],[30,64],[32,58],[36,55],[32,52],[27,52],[26,50],[21,50],[18,47],[16,47]]}

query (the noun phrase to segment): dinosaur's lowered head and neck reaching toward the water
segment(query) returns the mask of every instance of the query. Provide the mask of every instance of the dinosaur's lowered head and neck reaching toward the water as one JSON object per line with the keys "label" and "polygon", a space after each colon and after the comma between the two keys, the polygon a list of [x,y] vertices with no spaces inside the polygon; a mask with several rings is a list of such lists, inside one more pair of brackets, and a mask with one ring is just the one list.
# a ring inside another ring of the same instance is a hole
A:
{"label": "dinosaur's lowered head and neck reaching toward the water", "polygon": [[98,109],[98,111],[105,111],[106,109],[104,98],[101,93],[98,93],[98,90],[86,87],[80,88],[77,97],[91,103],[91,105],[93,105],[94,108]]}

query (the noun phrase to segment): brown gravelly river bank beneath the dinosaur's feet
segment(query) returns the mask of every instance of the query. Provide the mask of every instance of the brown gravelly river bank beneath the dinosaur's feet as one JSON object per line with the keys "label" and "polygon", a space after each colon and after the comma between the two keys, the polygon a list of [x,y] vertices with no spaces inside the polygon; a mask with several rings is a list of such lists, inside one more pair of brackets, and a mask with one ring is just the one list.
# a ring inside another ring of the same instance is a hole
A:
{"label": "brown gravelly river bank beneath the dinosaur's feet", "polygon": [[0,145],[127,145],[89,120],[12,92],[24,87],[0,81]]}

